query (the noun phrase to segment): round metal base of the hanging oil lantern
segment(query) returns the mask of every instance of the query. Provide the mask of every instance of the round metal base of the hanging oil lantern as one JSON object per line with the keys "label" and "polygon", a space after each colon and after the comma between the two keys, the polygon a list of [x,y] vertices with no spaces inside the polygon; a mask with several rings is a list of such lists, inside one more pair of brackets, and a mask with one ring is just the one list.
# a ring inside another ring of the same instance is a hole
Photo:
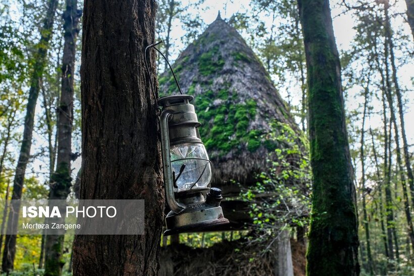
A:
{"label": "round metal base of the hanging oil lantern", "polygon": [[220,206],[211,206],[211,208],[206,208],[205,206],[209,205],[204,205],[203,209],[197,208],[196,210],[184,211],[180,214],[170,211],[165,218],[167,230],[164,232],[164,236],[188,232],[214,231],[216,226],[229,223],[229,220],[224,217]]}

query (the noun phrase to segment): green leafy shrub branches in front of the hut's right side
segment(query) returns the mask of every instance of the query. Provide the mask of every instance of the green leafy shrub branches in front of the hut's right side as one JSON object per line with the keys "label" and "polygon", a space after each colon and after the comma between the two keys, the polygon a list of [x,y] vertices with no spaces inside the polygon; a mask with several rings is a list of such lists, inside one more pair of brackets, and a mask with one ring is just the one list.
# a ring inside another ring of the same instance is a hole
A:
{"label": "green leafy shrub branches in front of the hut's right side", "polygon": [[[251,205],[254,242],[276,239],[281,230],[304,227],[310,210],[308,143],[287,124],[274,122],[266,140],[278,145],[269,153],[268,170],[257,175],[253,187],[241,197]],[[302,141],[304,148],[296,140]],[[267,248],[269,249],[269,248]]]}

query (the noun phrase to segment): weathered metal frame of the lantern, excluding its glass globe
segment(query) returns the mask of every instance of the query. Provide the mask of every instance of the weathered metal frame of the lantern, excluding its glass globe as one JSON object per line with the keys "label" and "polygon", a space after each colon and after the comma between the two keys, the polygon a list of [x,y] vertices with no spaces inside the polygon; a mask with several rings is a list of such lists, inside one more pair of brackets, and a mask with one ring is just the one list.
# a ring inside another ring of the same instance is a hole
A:
{"label": "weathered metal frame of the lantern, excluding its glass globe", "polygon": [[[190,157],[171,161],[171,145],[203,144],[198,133],[198,127],[201,124],[195,114],[194,105],[190,103],[192,99],[193,96],[190,95],[172,95],[162,97],[159,100],[159,105],[163,108],[160,121],[164,182],[167,203],[171,208],[166,217],[167,230],[164,232],[166,236],[184,232],[211,231],[219,225],[229,223],[220,207],[220,201],[223,198],[221,190],[209,188],[211,183],[206,187],[194,187],[194,189],[191,187],[189,190],[174,192],[175,179],[172,171],[172,162],[174,161],[206,160],[210,164],[213,175],[213,164],[209,159]],[[209,193],[207,194],[207,192]],[[205,196],[205,194],[207,195]]]}

